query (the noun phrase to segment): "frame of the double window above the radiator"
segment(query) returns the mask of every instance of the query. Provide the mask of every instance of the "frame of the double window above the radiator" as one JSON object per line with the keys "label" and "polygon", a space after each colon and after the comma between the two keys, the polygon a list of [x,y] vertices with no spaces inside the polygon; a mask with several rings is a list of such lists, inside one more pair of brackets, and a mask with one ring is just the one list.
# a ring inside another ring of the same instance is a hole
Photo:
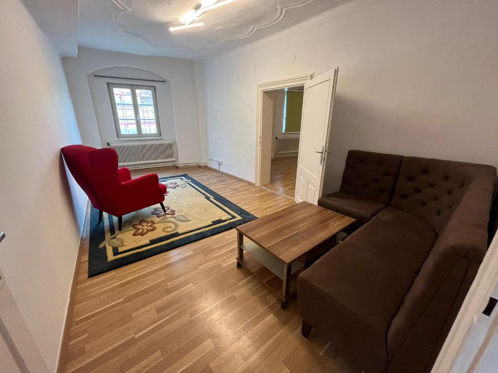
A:
{"label": "frame of the double window above the radiator", "polygon": [[[133,84],[121,84],[121,83],[107,83],[107,88],[109,91],[109,97],[111,98],[111,108],[114,117],[114,126],[116,129],[116,135],[119,139],[125,138],[161,138],[161,124],[159,122],[159,109],[157,106],[157,94],[155,86],[138,86]],[[135,114],[136,130],[138,133],[124,134],[121,133],[120,120],[117,112],[116,98],[114,96],[113,88],[127,88],[131,91],[131,102],[133,103],[133,112]],[[157,133],[142,133],[142,125],[140,121],[140,113],[138,111],[138,102],[136,100],[136,90],[149,90],[152,91],[152,103],[154,105],[154,115],[156,121]]]}

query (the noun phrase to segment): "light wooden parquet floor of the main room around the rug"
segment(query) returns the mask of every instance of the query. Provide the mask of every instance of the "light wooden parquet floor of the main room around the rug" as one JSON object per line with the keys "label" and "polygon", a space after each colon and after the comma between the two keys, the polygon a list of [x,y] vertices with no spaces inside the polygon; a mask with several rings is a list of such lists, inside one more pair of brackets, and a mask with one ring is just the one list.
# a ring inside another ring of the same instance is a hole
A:
{"label": "light wooden parquet floor of the main room around the rug", "polygon": [[[294,203],[208,169],[157,173],[188,173],[256,216]],[[351,371],[316,332],[301,336],[295,299],[281,309],[236,268],[235,229],[88,279],[86,227],[65,372]]]}

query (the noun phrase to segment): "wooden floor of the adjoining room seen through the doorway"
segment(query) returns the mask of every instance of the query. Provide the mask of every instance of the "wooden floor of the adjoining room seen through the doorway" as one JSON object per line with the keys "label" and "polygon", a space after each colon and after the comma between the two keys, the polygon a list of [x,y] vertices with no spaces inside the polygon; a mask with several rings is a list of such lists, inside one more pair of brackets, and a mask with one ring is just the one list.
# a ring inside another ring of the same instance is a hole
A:
{"label": "wooden floor of the adjoining room seen through the doorway", "polygon": [[294,198],[296,190],[297,156],[279,157],[271,160],[270,184],[265,188]]}

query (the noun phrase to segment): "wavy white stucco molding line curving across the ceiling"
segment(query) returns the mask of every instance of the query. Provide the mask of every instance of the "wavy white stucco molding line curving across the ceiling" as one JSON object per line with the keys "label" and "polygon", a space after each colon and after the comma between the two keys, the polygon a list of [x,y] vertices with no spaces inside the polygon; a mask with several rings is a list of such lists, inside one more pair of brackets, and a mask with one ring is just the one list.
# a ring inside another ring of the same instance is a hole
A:
{"label": "wavy white stucco molding line curving across the ceiling", "polygon": [[[120,28],[122,28],[122,30],[123,30],[124,33],[136,36],[136,37],[144,40],[145,42],[149,43],[154,48],[157,48],[157,46],[152,41],[150,41],[146,37],[144,37],[144,36],[142,36],[142,35],[134,32],[134,31],[129,30],[126,26],[124,26],[123,23],[121,23],[119,21],[118,18],[121,15],[123,15],[125,12],[132,12],[133,11],[132,9],[130,9],[129,7],[127,7],[126,5],[124,5],[121,2],[121,0],[109,0],[109,1],[111,1],[111,3],[118,8],[118,10],[116,10],[115,12],[113,12],[113,14],[111,16],[111,19],[112,19],[112,21],[117,26],[119,26]],[[203,46],[197,46],[197,47],[185,47],[185,46],[181,46],[181,45],[170,45],[169,47],[199,50],[199,49],[207,49],[207,48],[218,47],[218,46],[222,45],[223,43],[225,43],[225,41],[227,41],[227,40],[245,39],[245,38],[251,36],[252,34],[254,34],[254,32],[256,32],[259,29],[263,29],[263,28],[275,25],[280,20],[282,20],[282,18],[285,16],[285,13],[288,12],[289,10],[300,8],[302,6],[308,5],[309,3],[313,2],[313,1],[315,1],[315,0],[303,0],[300,3],[294,4],[294,5],[287,5],[287,6],[277,5],[277,15],[273,18],[273,20],[271,20],[270,22],[267,22],[265,24],[251,26],[249,32],[247,32],[247,33],[245,33],[243,35],[232,36],[232,37],[221,37],[221,38],[219,38],[219,40],[220,40],[219,42],[216,42],[216,43],[213,43],[213,44],[210,44],[210,45],[203,45]]]}

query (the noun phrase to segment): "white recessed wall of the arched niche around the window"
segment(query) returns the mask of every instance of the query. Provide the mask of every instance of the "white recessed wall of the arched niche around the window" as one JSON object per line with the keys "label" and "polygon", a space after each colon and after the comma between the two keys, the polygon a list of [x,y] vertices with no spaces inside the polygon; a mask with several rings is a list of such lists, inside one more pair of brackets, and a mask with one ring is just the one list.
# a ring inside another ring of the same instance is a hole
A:
{"label": "white recessed wall of the arched niche around the window", "polygon": [[[136,81],[126,79],[96,78],[94,75],[104,75],[112,77],[129,77],[134,79],[164,80],[157,74],[135,67],[115,66],[88,74],[88,86],[90,96],[95,110],[95,118],[102,146],[107,146],[107,142],[116,142],[118,135],[114,125],[111,98],[107,83],[134,84],[143,86],[154,86],[156,88],[157,107],[159,111],[159,123],[161,126],[161,137],[164,140],[176,140],[175,114],[173,111],[173,95],[171,93],[171,83]],[[122,141],[122,140],[120,140]],[[123,140],[125,141],[125,140]]]}

